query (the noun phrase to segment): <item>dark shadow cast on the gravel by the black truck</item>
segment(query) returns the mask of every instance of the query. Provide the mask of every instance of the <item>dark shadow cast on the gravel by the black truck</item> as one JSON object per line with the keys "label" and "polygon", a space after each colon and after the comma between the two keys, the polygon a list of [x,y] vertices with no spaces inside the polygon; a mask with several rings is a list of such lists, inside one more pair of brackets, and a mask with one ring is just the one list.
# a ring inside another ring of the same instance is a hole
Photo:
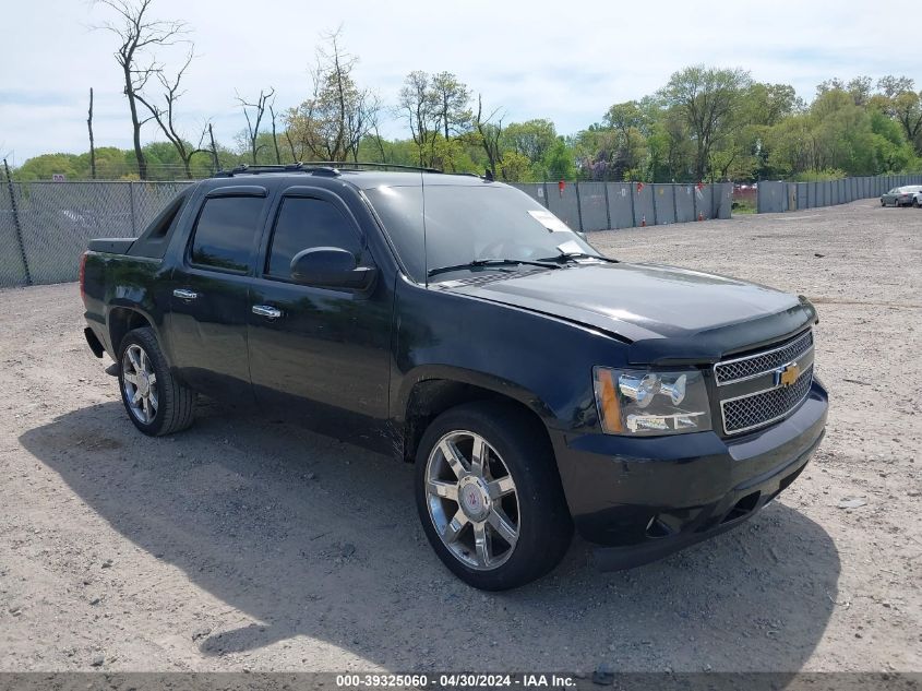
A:
{"label": "dark shadow cast on the gravel by the black truck", "polygon": [[203,622],[177,615],[203,664],[310,636],[395,670],[792,671],[835,606],[831,538],[778,502],[627,572],[596,572],[576,540],[549,577],[484,594],[426,543],[409,466],[298,426],[206,407],[190,431],[148,439],[106,403],[20,441],[122,536],[251,619],[216,615],[192,643]]}

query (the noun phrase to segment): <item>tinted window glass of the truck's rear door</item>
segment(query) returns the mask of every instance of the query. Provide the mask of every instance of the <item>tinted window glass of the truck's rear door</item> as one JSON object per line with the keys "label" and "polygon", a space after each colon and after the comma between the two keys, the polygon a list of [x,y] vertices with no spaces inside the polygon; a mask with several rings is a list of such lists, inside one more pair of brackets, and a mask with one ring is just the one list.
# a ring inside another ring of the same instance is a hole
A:
{"label": "tinted window glass of the truck's rear door", "polygon": [[247,272],[265,200],[216,196],[205,201],[192,238],[192,263]]}

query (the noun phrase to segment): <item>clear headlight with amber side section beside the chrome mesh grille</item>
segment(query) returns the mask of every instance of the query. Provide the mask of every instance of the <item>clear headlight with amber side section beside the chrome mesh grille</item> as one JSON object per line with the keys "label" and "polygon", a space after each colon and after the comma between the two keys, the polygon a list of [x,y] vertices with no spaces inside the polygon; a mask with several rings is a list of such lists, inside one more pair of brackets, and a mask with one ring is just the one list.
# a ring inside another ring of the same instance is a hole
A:
{"label": "clear headlight with amber side section beside the chrome mesh grille", "polygon": [[607,434],[681,434],[710,429],[707,389],[698,370],[592,369],[596,406]]}

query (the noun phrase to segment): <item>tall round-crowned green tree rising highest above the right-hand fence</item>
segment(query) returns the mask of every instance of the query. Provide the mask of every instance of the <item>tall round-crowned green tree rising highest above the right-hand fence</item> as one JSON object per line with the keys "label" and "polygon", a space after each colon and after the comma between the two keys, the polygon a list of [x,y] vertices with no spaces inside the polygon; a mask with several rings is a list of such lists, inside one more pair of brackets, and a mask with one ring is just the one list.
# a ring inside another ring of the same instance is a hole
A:
{"label": "tall round-crowned green tree rising highest above the right-hand fence", "polygon": [[733,127],[733,111],[751,84],[743,70],[695,65],[675,72],[662,90],[664,102],[682,115],[694,139],[696,179],[705,178],[711,150]]}

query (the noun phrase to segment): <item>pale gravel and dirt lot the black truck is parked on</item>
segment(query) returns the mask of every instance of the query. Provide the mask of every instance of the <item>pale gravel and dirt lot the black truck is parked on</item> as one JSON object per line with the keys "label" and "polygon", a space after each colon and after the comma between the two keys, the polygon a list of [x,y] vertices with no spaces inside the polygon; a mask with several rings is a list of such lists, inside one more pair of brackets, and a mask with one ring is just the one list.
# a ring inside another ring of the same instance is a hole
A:
{"label": "pale gravel and dirt lot the black truck is parked on", "polygon": [[872,201],[595,234],[810,296],[828,436],[735,532],[609,574],[577,540],[499,595],[438,562],[409,467],[214,406],[144,438],[76,286],[0,291],[0,670],[922,670],[920,238]]}

